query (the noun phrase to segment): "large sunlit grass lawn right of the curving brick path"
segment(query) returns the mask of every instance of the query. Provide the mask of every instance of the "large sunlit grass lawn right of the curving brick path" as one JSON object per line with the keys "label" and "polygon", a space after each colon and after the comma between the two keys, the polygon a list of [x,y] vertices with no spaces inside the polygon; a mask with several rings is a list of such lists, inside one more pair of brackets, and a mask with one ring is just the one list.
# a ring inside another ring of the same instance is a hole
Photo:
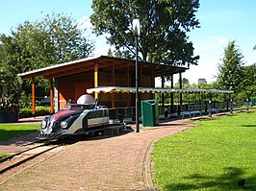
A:
{"label": "large sunlit grass lawn right of the curving brick path", "polygon": [[[256,190],[256,112],[192,122],[159,140],[153,179],[162,190]],[[238,180],[245,179],[244,188]]]}

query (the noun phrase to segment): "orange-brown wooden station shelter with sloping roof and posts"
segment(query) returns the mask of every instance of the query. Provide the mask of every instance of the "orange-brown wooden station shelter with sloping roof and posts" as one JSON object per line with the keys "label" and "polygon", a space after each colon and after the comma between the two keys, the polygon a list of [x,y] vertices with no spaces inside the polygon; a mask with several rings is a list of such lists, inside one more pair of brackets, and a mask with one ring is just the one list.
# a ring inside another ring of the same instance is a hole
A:
{"label": "orange-brown wooden station shelter with sloping roof and posts", "polygon": [[[164,88],[165,77],[168,76],[171,79],[171,87],[173,87],[173,75],[177,74],[182,79],[182,73],[187,69],[186,67],[139,61],[139,86],[155,88],[155,78],[161,77]],[[48,66],[19,74],[19,76],[32,80],[32,105],[35,113],[35,92],[37,90],[35,78],[37,77],[43,77],[49,81],[50,109],[51,112],[56,112],[62,109],[68,101],[76,102],[91,88],[100,86],[135,87],[135,71],[135,60],[100,56]],[[95,99],[100,95],[101,104],[110,108],[135,107],[135,94],[130,91],[103,94],[93,91],[91,95]],[[154,91],[141,92],[140,100],[154,99],[154,96]],[[164,98],[162,100],[164,102]]]}

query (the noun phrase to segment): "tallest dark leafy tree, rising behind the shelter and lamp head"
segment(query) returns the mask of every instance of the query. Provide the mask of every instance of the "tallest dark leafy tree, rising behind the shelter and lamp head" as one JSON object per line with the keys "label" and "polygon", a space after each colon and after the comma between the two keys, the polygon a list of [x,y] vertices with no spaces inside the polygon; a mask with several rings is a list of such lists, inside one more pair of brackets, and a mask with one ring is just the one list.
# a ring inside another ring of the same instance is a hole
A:
{"label": "tallest dark leafy tree, rising behind the shelter and lamp head", "polygon": [[[108,42],[135,55],[132,21],[141,21],[141,60],[170,65],[197,64],[187,33],[199,27],[198,0],[93,0],[90,21],[97,35],[110,34]],[[126,54],[127,55],[127,54]]]}

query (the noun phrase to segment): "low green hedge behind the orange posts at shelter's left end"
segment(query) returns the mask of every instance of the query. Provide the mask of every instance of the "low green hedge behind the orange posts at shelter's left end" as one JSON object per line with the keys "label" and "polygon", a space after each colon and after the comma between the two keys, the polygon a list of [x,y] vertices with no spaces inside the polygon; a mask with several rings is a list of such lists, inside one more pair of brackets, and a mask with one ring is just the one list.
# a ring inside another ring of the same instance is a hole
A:
{"label": "low green hedge behind the orange posts at shelter's left end", "polygon": [[19,109],[19,118],[43,116],[50,114],[50,107],[36,107],[36,113],[33,115],[31,107],[25,107]]}

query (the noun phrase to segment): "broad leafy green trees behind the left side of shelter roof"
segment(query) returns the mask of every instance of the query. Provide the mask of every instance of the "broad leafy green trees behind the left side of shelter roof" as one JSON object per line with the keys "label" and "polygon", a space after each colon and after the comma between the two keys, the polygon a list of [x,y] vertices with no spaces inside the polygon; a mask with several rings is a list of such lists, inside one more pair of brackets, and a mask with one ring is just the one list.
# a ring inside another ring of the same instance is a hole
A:
{"label": "broad leafy green trees behind the left side of shelter roof", "polygon": [[[94,48],[76,21],[64,14],[46,15],[42,20],[24,22],[12,29],[11,36],[0,36],[0,65],[16,75],[41,67],[84,59]],[[24,81],[23,90],[31,92],[30,81]],[[37,78],[40,96],[48,94],[48,83]]]}

